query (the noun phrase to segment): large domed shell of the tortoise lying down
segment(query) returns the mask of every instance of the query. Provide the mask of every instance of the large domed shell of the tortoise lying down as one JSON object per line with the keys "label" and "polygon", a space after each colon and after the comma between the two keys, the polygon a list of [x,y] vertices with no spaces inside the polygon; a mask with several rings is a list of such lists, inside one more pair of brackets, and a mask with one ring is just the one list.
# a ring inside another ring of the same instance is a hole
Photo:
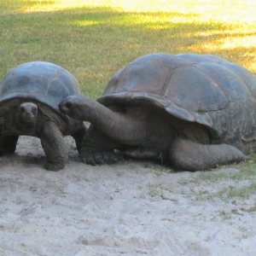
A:
{"label": "large domed shell of the tortoise lying down", "polygon": [[153,54],[115,73],[98,102],[149,102],[229,141],[255,137],[255,96],[255,75],[218,56]]}

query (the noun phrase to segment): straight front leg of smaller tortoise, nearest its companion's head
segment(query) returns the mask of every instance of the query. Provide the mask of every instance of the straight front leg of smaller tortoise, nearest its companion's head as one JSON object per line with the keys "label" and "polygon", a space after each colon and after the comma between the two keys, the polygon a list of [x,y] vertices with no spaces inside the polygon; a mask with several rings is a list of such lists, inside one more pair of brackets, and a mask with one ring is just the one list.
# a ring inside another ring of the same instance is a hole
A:
{"label": "straight front leg of smaller tortoise, nearest its companion's head", "polygon": [[46,121],[42,128],[40,139],[46,155],[44,168],[49,171],[63,169],[68,155],[59,126],[52,121]]}

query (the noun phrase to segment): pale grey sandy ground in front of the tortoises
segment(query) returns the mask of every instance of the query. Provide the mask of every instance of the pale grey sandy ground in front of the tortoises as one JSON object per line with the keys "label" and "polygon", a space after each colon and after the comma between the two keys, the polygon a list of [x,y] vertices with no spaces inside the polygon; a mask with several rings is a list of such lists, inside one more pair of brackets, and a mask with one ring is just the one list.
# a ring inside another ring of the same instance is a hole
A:
{"label": "pale grey sandy ground in front of the tortoises", "polygon": [[[37,138],[0,159],[0,255],[256,255],[255,203],[200,199],[246,181],[193,183],[201,172],[148,161],[44,170]],[[211,172],[238,172],[234,168]]]}

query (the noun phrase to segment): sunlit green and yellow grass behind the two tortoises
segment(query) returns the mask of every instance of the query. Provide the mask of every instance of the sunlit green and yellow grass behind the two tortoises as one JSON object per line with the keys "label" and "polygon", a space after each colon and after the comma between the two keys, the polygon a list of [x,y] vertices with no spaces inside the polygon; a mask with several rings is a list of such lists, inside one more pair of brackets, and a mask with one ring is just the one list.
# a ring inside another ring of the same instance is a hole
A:
{"label": "sunlit green and yellow grass behind the two tortoises", "polygon": [[210,53],[256,73],[253,0],[3,0],[0,79],[26,61],[50,61],[101,96],[108,79],[140,55]]}

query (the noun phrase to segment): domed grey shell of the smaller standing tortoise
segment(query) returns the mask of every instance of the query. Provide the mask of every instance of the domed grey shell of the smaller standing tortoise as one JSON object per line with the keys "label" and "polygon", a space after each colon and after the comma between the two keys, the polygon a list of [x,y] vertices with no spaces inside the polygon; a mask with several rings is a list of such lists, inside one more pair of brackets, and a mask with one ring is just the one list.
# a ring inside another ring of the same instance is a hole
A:
{"label": "domed grey shell of the smaller standing tortoise", "polygon": [[0,115],[15,99],[41,102],[61,114],[58,104],[67,96],[79,95],[79,84],[62,67],[44,61],[32,61],[11,69],[0,84]]}

